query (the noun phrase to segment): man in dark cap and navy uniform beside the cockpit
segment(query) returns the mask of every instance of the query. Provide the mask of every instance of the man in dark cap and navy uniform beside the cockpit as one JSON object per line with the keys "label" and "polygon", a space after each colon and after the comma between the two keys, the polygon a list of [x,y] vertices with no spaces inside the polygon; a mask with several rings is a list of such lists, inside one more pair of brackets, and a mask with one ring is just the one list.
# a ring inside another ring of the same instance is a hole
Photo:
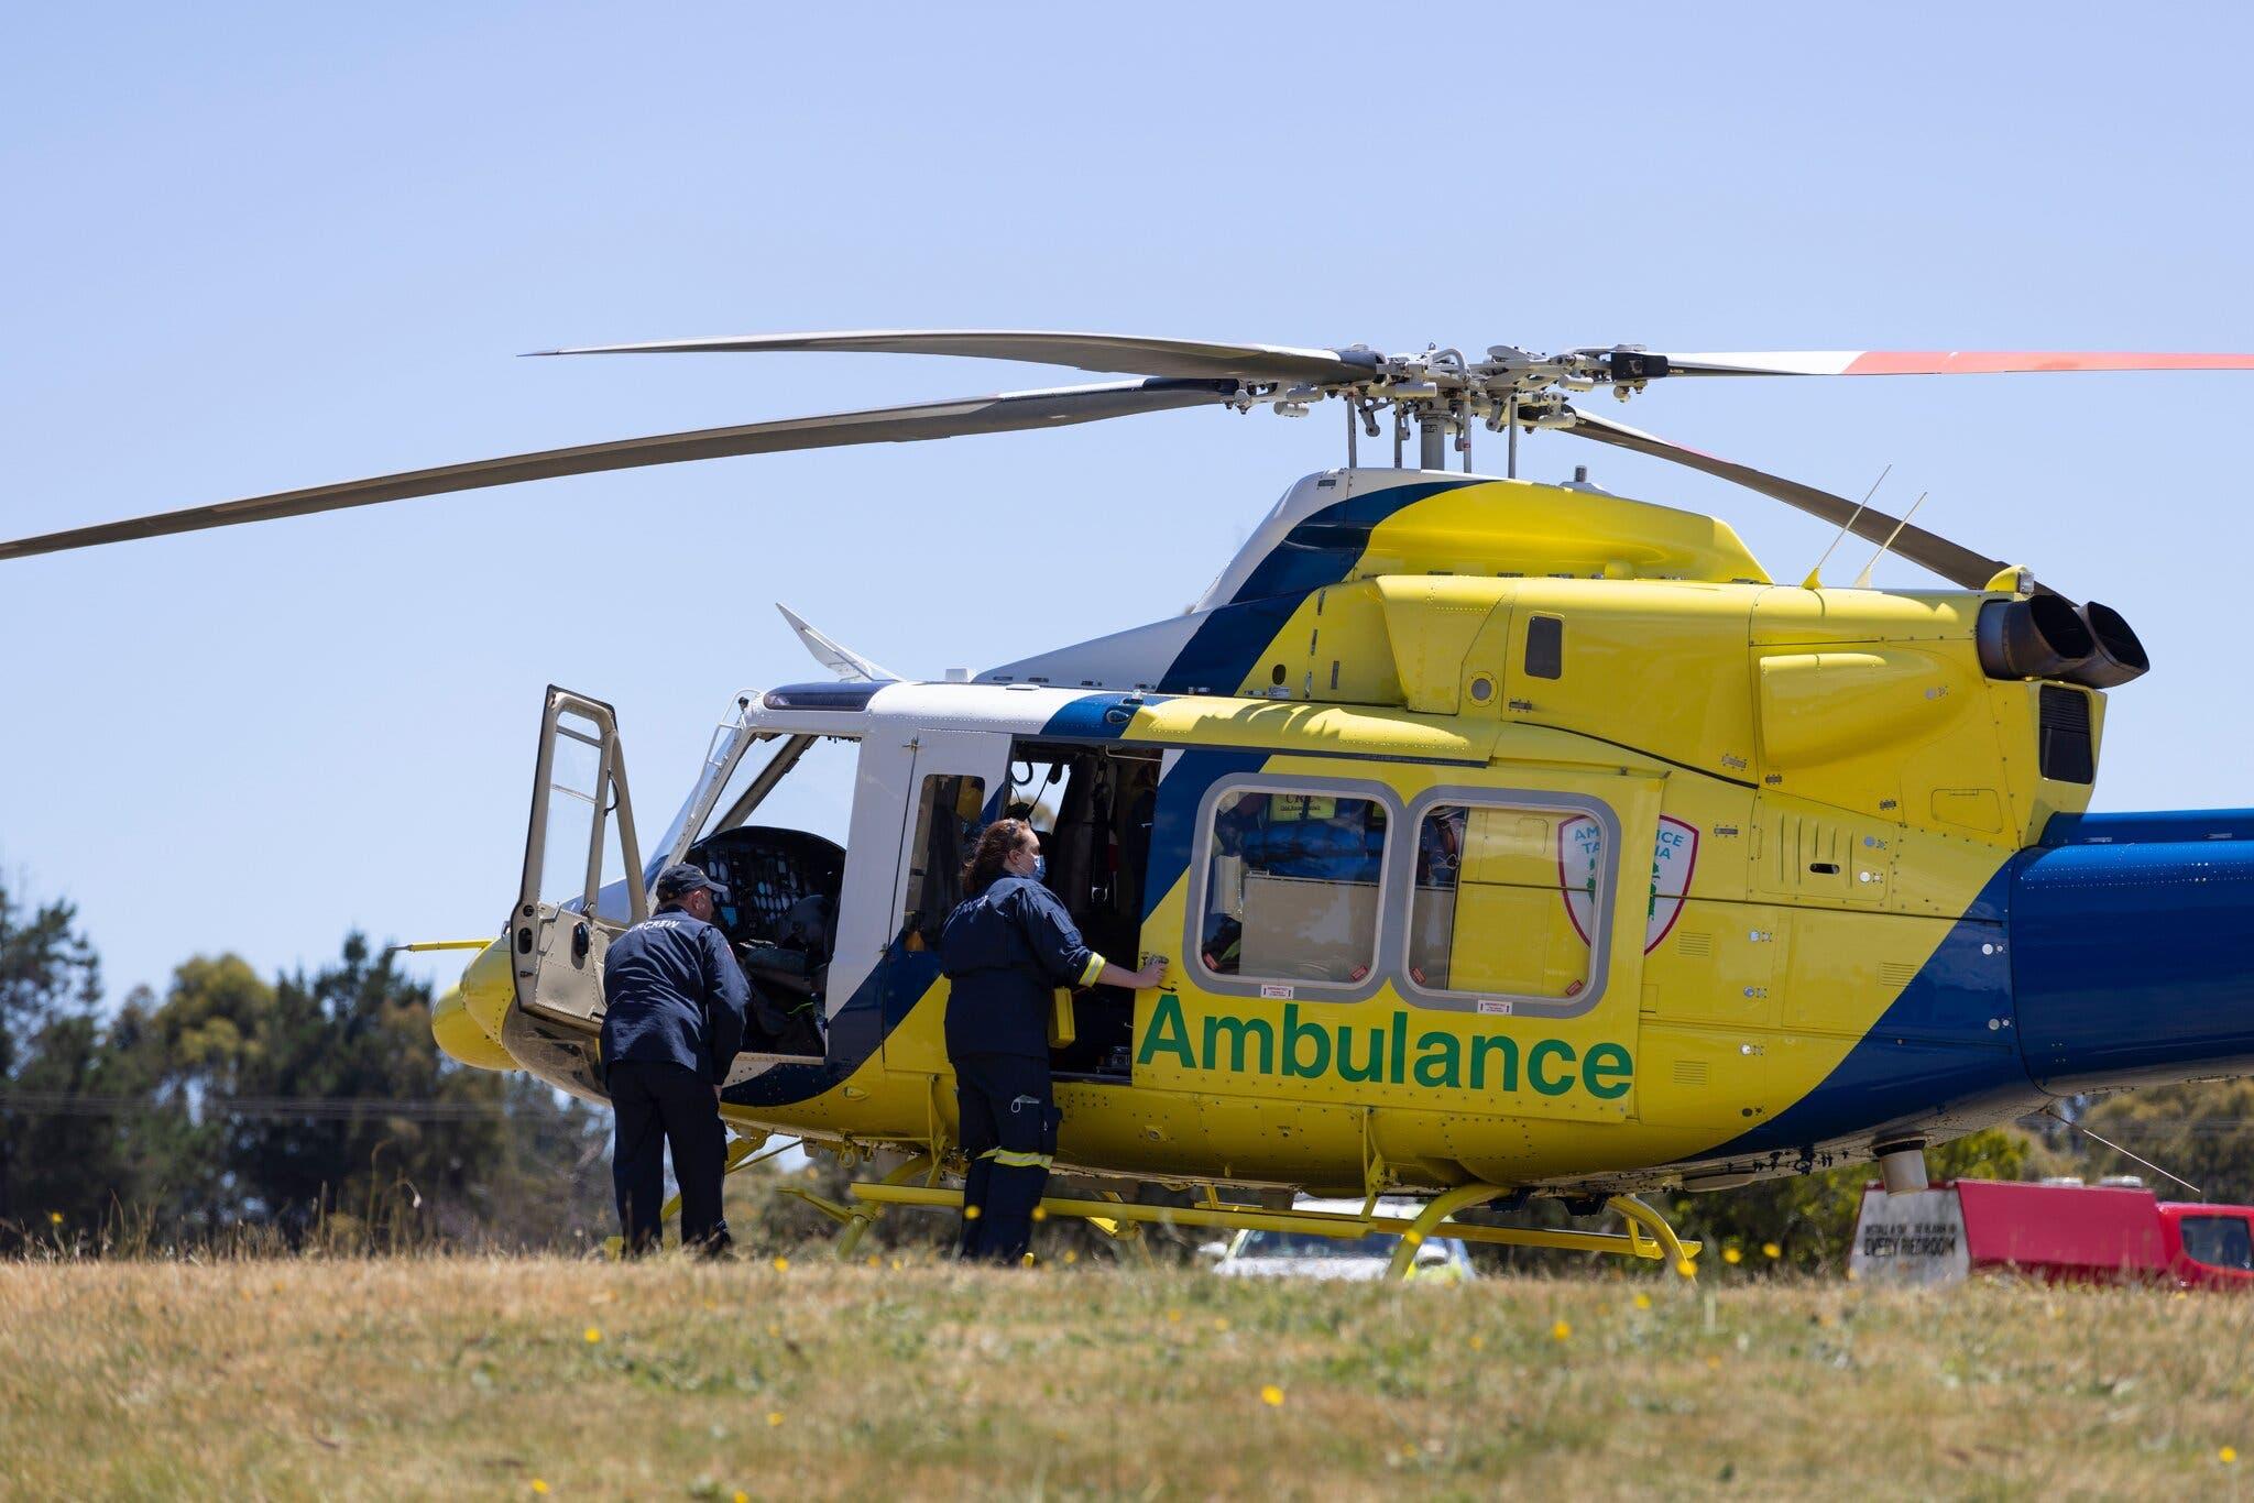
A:
{"label": "man in dark cap and navy uniform beside the cockpit", "polygon": [[681,1185],[681,1246],[719,1255],[726,1129],[719,1086],[744,1043],[744,971],[712,924],[728,888],[681,863],[658,872],[658,910],[611,944],[602,962],[602,1070],[618,1136],[611,1183],[627,1255],[658,1246],[665,1145]]}

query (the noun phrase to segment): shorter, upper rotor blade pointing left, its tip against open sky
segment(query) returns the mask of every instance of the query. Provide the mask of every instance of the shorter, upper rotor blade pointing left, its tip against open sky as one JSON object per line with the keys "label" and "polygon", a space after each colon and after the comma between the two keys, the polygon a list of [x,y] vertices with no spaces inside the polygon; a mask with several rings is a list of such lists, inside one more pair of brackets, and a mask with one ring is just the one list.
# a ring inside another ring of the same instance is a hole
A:
{"label": "shorter, upper rotor blade pointing left, its tip against open sky", "polygon": [[1240,381],[1366,381],[1377,370],[1368,349],[1294,349],[1289,345],[1213,345],[1129,333],[1044,333],[1032,329],[854,329],[845,333],[748,333],[647,345],[582,345],[534,354],[949,354],[974,361],[1028,361],[1138,376],[1235,376]]}

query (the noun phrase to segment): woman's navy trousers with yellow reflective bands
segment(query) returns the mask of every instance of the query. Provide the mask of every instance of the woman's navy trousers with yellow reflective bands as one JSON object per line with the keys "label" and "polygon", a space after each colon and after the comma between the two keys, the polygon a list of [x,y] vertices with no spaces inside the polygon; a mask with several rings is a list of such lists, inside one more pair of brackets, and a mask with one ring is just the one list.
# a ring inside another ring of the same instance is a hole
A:
{"label": "woman's navy trousers with yellow reflective bands", "polygon": [[956,1109],[962,1115],[962,1257],[1019,1264],[1032,1244],[1032,1208],[1057,1151],[1057,1111],[1046,1059],[962,1055]]}

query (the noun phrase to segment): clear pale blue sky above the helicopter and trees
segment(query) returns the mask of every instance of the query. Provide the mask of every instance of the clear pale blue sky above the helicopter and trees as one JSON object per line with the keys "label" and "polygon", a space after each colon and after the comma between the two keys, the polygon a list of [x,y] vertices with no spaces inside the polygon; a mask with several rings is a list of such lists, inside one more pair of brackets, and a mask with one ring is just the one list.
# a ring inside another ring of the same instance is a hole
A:
{"label": "clear pale blue sky above the helicopter and trees", "polygon": [[[1080,379],[512,358],[561,343],[2254,349],[2245,7],[1427,16],[18,7],[5,532]],[[2157,669],[2112,701],[2121,809],[2254,802],[2247,401],[2254,376],[1745,381],[1625,417],[1835,491],[1891,462],[1887,500],[1932,489],[1923,523],[2123,608]],[[1341,462],[1339,424],[728,460],[0,566],[0,872],[79,904],[113,996],[194,951],[491,933],[545,683],[618,703],[654,834],[735,687],[814,676],[769,602],[911,674],[1152,620]],[[1727,516],[1783,579],[1826,543],[1720,482],[1526,446],[1537,478],[1576,462]]]}

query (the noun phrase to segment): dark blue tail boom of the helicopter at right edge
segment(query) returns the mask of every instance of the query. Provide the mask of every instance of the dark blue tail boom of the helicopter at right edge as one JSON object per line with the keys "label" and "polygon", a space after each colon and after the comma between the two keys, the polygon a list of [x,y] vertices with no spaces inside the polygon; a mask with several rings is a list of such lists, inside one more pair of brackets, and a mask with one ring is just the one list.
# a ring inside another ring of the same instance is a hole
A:
{"label": "dark blue tail boom of the helicopter at right edge", "polygon": [[2044,1091],[2254,1075],[2254,809],[2053,818],[2017,859],[2011,949]]}

